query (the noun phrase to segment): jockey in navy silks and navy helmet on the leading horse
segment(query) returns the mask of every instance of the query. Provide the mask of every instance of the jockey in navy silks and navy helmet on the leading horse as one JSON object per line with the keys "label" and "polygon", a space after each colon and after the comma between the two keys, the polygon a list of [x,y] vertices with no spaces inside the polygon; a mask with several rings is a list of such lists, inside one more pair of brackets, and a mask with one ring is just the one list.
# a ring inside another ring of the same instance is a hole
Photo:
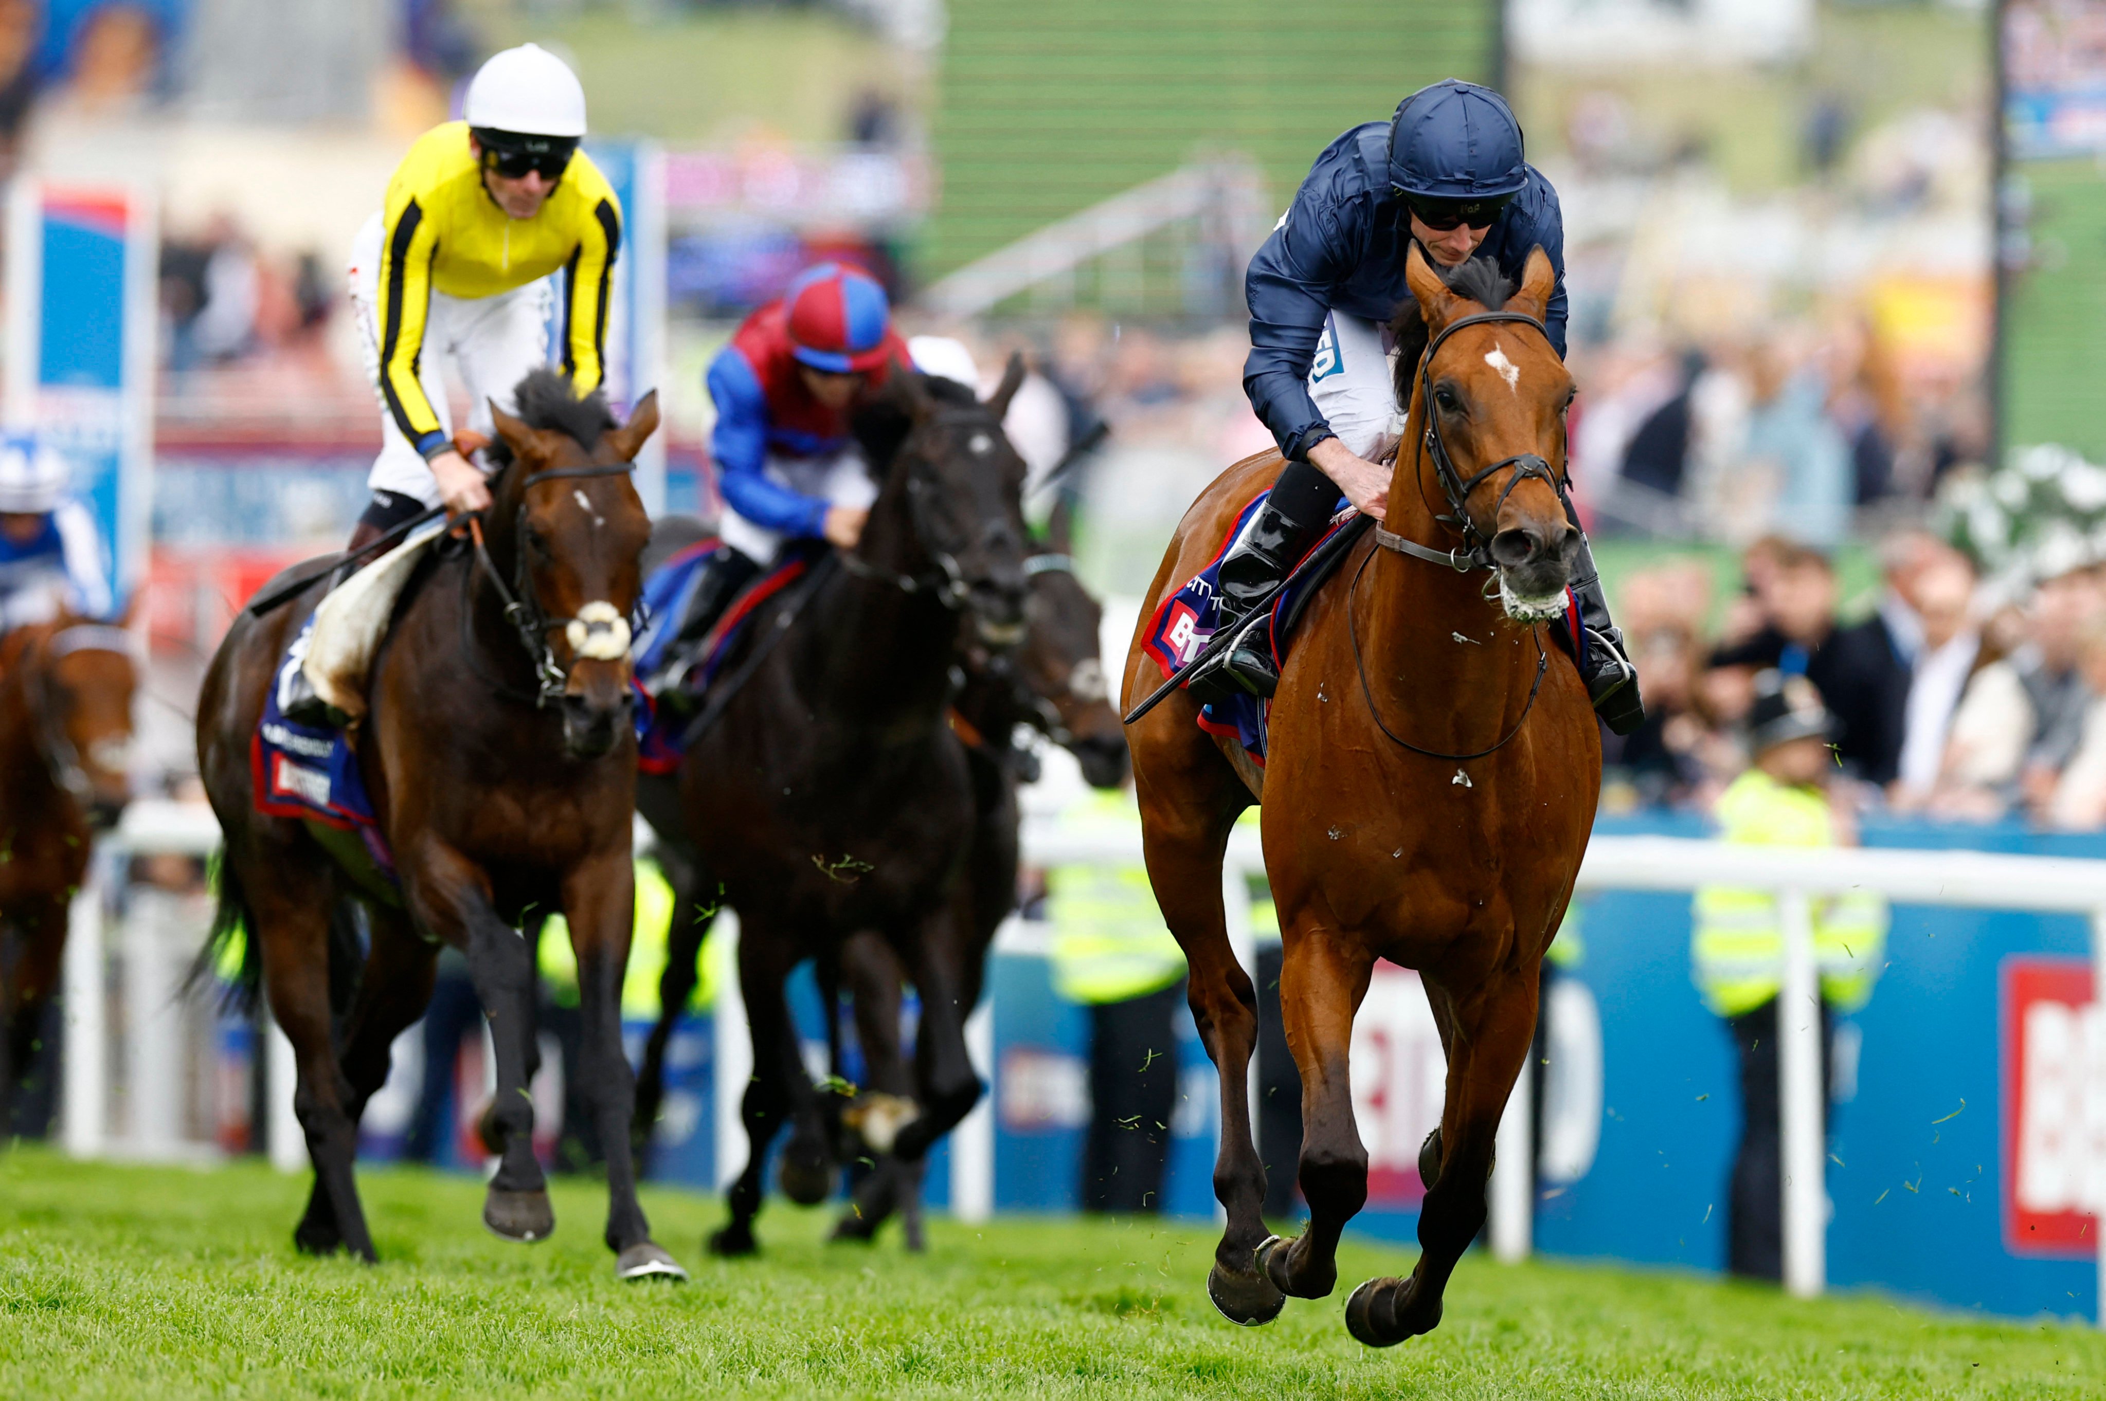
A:
{"label": "jockey in navy silks and navy helmet on the leading horse", "polygon": [[[1544,329],[1565,354],[1565,221],[1556,190],[1523,160],[1506,99],[1449,78],[1398,103],[1394,120],[1354,126],[1327,145],[1245,280],[1251,356],[1243,388],[1287,470],[1221,560],[1224,619],[1249,617],[1272,594],[1339,495],[1367,512],[1390,487],[1390,468],[1371,459],[1403,430],[1386,335],[1411,299],[1411,240],[1438,268],[1489,257],[1514,282],[1542,246],[1558,274]],[[1643,718],[1638,674],[1609,621],[1584,535],[1571,590],[1590,643],[1588,695],[1609,729],[1628,733]],[[1278,672],[1255,632],[1226,653],[1217,680],[1200,685],[1272,695]]]}

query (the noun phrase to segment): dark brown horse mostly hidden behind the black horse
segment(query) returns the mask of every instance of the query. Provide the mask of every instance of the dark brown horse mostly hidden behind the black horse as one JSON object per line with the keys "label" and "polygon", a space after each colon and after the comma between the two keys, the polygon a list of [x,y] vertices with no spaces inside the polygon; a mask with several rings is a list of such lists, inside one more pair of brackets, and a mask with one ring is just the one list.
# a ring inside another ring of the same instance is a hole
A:
{"label": "dark brown horse mostly hidden behind the black horse", "polygon": [[[975,826],[965,879],[952,897],[952,925],[962,929],[956,948],[965,965],[956,982],[965,1007],[979,1005],[988,948],[1002,921],[1017,908],[1017,784],[1036,761],[1011,748],[1011,733],[1030,725],[1068,748],[1082,777],[1097,788],[1127,782],[1127,737],[1104,685],[1099,624],[1104,609],[1074,575],[1068,554],[1068,510],[1055,510],[1047,544],[1024,560],[1030,594],[1024,603],[1024,643],[1013,653],[967,647],[965,689],[952,708],[952,729],[967,744],[973,771]],[[834,1226],[838,1241],[868,1241],[901,1211],[908,1249],[922,1249],[922,1161],[891,1152],[899,1127],[916,1114],[920,1066],[901,1051],[903,969],[891,946],[857,933],[840,948],[838,975],[819,969],[821,1001],[830,1011],[828,1041],[840,1074],[838,986],[855,1007],[855,1039],[863,1051],[863,1085],[845,1112],[874,1167],[857,1182],[847,1216]]]}

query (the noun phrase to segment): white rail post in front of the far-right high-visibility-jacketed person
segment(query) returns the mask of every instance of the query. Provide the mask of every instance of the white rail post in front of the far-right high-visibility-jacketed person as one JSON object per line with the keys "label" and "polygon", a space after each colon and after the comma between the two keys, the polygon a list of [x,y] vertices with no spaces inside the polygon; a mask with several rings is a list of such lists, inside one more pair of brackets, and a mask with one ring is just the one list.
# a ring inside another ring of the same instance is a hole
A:
{"label": "white rail post in front of the far-right high-visibility-jacketed person", "polygon": [[1777,990],[1777,1110],[1784,1178],[1784,1287],[1815,1298],[1828,1283],[1828,1133],[1822,1083],[1822,986],[1813,902],[1777,893],[1784,978]]}

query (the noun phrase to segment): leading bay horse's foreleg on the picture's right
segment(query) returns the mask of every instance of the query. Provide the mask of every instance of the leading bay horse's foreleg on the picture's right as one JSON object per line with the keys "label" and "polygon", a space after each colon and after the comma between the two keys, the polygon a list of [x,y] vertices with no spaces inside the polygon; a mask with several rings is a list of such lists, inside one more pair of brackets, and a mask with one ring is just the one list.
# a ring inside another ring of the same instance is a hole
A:
{"label": "leading bay horse's foreleg on the picture's right", "polygon": [[1346,1300],[1346,1329],[1369,1346],[1430,1334],[1441,1323],[1449,1275],[1485,1228],[1491,1144],[1535,1037],[1535,959],[1493,969],[1470,990],[1426,980],[1428,997],[1447,1001],[1451,1028],[1441,1171],[1419,1211],[1422,1251],[1411,1279],[1369,1279]]}

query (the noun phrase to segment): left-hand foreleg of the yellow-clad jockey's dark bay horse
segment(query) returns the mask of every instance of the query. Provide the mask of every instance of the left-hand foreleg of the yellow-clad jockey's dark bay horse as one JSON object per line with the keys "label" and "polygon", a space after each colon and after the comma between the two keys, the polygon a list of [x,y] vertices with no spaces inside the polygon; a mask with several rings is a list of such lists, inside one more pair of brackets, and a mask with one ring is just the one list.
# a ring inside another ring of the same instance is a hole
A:
{"label": "left-hand foreleg of the yellow-clad jockey's dark bay horse", "polygon": [[499,919],[482,868],[444,843],[428,838],[409,853],[402,879],[423,927],[468,954],[468,975],[497,1051],[497,1096],[484,1129],[497,1138],[499,1161],[482,1201],[482,1224],[505,1241],[541,1241],[556,1228],[556,1211],[533,1155],[526,1091],[535,1055],[533,948]]}

